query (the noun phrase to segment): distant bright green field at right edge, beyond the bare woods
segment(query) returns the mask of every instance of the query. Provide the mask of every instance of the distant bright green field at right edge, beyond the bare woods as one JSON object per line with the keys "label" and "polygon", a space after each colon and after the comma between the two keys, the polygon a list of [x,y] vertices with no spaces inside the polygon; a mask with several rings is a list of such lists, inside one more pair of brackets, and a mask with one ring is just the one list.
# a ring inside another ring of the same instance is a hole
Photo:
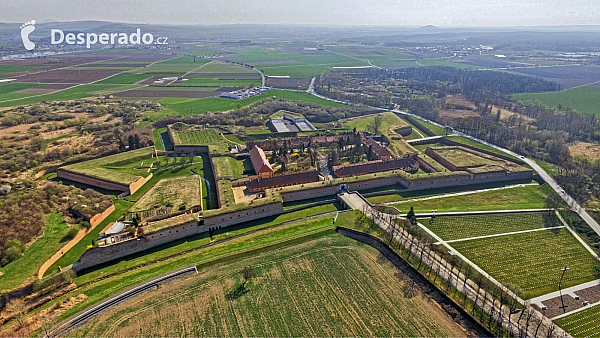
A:
{"label": "distant bright green field at right edge, beyond the bare woods", "polygon": [[520,102],[542,104],[547,107],[571,108],[582,113],[600,115],[600,88],[579,87],[559,92],[515,94],[513,98]]}

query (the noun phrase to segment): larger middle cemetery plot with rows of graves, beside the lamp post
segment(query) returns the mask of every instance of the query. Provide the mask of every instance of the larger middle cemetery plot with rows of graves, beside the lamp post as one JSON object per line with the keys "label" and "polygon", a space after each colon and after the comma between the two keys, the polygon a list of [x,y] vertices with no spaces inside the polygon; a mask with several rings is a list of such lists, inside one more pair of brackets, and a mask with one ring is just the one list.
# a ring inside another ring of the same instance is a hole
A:
{"label": "larger middle cemetery plot with rows of graves, beside the lamp post", "polygon": [[563,288],[600,278],[600,263],[565,228],[450,245],[501,283],[519,287],[525,298],[558,291],[566,265]]}

